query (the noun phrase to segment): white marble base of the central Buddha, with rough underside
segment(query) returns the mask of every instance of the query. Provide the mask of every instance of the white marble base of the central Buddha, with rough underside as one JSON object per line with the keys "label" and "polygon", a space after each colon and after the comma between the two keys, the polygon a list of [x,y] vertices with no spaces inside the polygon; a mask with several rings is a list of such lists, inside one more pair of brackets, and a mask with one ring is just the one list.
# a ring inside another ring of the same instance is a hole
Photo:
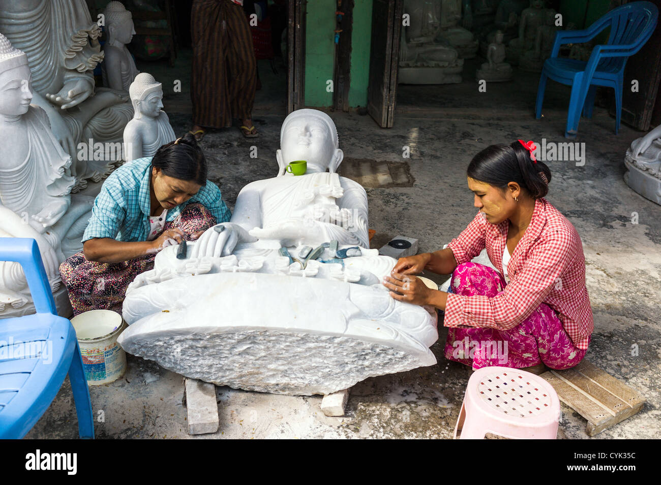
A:
{"label": "white marble base of the central Buddha, with rough underside", "polygon": [[395,259],[360,251],[302,269],[274,249],[178,260],[168,247],[129,286],[118,341],[186,377],[288,395],[435,364],[436,311],[391,298],[380,280]]}

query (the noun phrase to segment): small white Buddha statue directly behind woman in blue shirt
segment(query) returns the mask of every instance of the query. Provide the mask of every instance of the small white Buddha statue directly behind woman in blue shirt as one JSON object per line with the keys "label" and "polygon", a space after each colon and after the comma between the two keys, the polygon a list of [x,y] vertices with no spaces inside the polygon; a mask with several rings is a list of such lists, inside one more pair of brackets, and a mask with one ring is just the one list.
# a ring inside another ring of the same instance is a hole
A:
{"label": "small white Buddha statue directly behind woman in blue shirt", "polygon": [[152,156],[161,145],[176,139],[163,108],[163,89],[149,73],[140,73],[129,89],[134,117],[124,128],[127,161]]}

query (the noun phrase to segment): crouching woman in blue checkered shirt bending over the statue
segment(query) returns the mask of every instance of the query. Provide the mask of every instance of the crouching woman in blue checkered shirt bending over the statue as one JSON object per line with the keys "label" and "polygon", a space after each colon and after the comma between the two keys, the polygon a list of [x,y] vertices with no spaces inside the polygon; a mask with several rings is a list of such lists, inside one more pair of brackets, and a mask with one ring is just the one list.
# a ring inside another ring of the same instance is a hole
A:
{"label": "crouching woman in blue checkered shirt bending over the statue", "polygon": [[220,189],[206,177],[193,135],[110,174],[94,202],[83,251],[59,267],[75,315],[93,309],[122,313],[126,288],[153,269],[161,249],[229,221]]}

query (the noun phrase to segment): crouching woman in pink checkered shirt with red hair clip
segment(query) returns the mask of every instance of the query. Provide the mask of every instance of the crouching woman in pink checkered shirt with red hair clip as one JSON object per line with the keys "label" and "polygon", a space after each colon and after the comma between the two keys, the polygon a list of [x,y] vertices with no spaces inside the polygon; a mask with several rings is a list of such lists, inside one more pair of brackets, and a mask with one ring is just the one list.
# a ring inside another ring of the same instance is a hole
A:
{"label": "crouching woman in pink checkered shirt with red hair clip", "polygon": [[[479,212],[446,249],[399,259],[383,284],[396,300],[445,311],[445,354],[485,366],[566,369],[594,330],[578,232],[543,197],[551,171],[531,142],[490,145],[468,166]],[[496,270],[471,263],[486,247]],[[423,270],[452,273],[449,291],[427,288]]]}

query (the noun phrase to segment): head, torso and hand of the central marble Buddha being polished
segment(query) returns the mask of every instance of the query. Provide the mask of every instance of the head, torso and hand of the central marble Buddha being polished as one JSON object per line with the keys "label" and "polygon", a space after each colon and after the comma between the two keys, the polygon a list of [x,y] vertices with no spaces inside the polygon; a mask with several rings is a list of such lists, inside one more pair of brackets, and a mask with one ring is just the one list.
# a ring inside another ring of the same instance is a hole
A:
{"label": "head, torso and hand of the central marble Buddha being polished", "polygon": [[[243,187],[221,237],[207,230],[194,255],[228,255],[237,243],[277,249],[337,240],[369,247],[367,193],[336,174],[343,156],[329,115],[308,109],[290,113],[280,129],[278,176]],[[304,175],[286,171],[295,160],[307,162]]]}

